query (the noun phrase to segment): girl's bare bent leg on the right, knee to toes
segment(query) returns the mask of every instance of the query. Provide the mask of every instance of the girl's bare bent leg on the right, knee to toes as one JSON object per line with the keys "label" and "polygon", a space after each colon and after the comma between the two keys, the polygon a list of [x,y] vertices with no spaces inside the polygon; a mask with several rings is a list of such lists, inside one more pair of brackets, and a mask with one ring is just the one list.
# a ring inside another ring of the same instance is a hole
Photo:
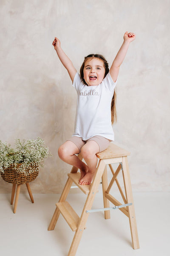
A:
{"label": "girl's bare bent leg on the right, knee to toes", "polygon": [[88,185],[93,180],[97,166],[96,153],[98,152],[99,145],[94,140],[90,140],[84,146],[82,146],[81,153],[88,165],[88,172],[82,179],[79,180],[79,184]]}

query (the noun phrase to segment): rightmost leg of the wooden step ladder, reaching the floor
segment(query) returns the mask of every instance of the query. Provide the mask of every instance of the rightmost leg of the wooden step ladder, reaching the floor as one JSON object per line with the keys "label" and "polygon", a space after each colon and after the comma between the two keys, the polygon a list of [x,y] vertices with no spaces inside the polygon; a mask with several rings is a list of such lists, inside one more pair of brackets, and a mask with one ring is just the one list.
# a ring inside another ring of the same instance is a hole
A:
{"label": "rightmost leg of the wooden step ladder, reaching the floor", "polygon": [[122,172],[123,172],[123,179],[125,184],[125,194],[126,194],[127,203],[132,203],[130,207],[127,207],[129,212],[129,223],[130,223],[130,232],[132,237],[132,245],[133,245],[133,249],[139,249],[139,238],[138,238],[138,231],[137,231],[137,225],[136,225],[135,208],[133,204],[133,194],[132,194],[132,187],[130,182],[130,173],[129,173],[127,157],[123,157],[122,167],[123,167]]}

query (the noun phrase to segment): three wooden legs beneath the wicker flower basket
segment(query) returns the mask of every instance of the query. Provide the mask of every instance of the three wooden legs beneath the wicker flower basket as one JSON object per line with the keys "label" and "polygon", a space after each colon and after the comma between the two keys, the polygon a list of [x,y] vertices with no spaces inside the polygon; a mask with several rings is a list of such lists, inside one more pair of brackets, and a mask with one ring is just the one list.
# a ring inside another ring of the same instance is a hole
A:
{"label": "three wooden legs beneath the wicker flower basket", "polygon": [[[16,195],[15,195],[16,185],[17,185],[17,191],[16,191]],[[12,186],[11,204],[13,204],[14,196],[15,196],[14,213],[16,213],[16,210],[17,210],[18,198],[19,198],[19,195],[20,195],[20,186],[21,186],[21,184],[15,184],[15,183]],[[26,183],[26,187],[28,189],[28,193],[29,193],[29,196],[31,198],[31,202],[34,203],[34,199],[33,199],[33,196],[32,196],[32,192],[31,192],[29,183]]]}

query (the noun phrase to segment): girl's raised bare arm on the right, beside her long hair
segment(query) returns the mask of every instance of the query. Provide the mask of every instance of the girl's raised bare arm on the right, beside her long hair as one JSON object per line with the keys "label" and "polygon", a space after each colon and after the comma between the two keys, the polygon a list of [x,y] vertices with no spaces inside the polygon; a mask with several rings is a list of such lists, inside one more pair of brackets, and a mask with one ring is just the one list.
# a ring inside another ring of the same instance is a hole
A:
{"label": "girl's raised bare arm on the right, beside her long hair", "polygon": [[123,37],[124,39],[123,44],[120,47],[119,52],[117,53],[110,68],[111,78],[113,79],[114,82],[116,82],[117,80],[117,77],[119,74],[119,68],[126,56],[126,52],[127,52],[127,49],[129,48],[129,44],[130,42],[135,40],[135,38],[136,38],[136,35],[134,33],[131,33],[131,32],[128,33],[127,31],[125,32],[125,35]]}

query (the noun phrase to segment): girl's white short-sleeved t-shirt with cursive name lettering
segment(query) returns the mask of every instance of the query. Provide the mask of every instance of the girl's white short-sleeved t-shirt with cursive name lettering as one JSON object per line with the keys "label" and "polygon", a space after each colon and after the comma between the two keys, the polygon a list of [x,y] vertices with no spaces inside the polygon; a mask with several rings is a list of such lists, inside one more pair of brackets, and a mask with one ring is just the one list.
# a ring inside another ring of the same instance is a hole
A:
{"label": "girl's white short-sleeved t-shirt with cursive name lettering", "polygon": [[[117,82],[117,80],[116,80]],[[88,86],[76,73],[73,86],[77,90],[74,134],[88,140],[96,135],[114,140],[111,124],[111,100],[116,86],[110,73],[97,86]]]}

